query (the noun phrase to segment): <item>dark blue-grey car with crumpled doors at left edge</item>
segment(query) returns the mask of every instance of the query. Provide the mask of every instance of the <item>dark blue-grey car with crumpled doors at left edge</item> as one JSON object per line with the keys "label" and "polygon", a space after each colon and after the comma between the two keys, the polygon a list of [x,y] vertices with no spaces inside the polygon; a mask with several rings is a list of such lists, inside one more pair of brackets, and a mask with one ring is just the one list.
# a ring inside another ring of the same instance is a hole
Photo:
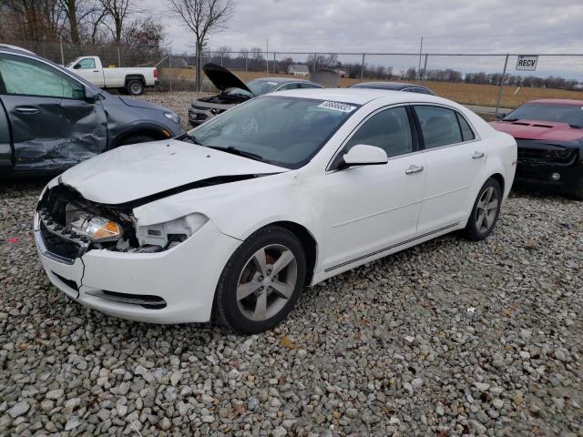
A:
{"label": "dark blue-grey car with crumpled doors at left edge", "polygon": [[113,147],[184,133],[177,114],[117,97],[0,45],[0,177],[55,174]]}

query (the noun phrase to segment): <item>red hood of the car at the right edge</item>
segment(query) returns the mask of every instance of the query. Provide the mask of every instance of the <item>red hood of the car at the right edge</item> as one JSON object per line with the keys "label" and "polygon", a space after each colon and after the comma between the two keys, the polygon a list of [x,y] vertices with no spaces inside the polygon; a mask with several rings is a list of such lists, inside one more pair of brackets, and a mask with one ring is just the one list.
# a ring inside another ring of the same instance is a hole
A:
{"label": "red hood of the car at the right edge", "polygon": [[545,141],[574,141],[583,137],[583,129],[567,123],[541,120],[493,121],[490,126],[515,138]]}

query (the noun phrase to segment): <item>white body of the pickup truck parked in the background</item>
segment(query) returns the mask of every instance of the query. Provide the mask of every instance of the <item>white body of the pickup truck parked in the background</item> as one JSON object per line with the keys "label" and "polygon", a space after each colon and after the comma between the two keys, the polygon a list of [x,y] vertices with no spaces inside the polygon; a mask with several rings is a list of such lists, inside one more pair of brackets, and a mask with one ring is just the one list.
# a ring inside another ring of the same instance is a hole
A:
{"label": "white body of the pickup truck parked in the background", "polygon": [[144,79],[144,86],[156,85],[157,79],[154,75],[156,67],[154,66],[104,68],[99,56],[81,56],[77,58],[77,62],[83,59],[93,59],[95,61],[95,68],[75,69],[73,67],[67,67],[67,69],[100,88],[122,88],[126,86],[126,77],[128,76],[142,77]]}

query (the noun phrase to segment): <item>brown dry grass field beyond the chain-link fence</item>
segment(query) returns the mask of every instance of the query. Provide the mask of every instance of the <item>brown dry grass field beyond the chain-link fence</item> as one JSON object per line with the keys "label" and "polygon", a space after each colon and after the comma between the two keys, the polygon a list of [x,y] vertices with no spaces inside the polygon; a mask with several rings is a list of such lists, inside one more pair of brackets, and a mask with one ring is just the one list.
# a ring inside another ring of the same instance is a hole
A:
{"label": "brown dry grass field beyond the chain-link fence", "polygon": [[[173,80],[179,81],[194,81],[194,70],[190,68],[165,68],[162,70],[162,76],[167,76],[171,72]],[[241,80],[247,82],[248,80],[268,76],[265,72],[250,71],[234,71]],[[289,76],[282,74],[270,73],[269,76]],[[370,79],[365,79],[370,80]],[[359,79],[350,79],[343,77],[341,79],[341,86],[351,86]],[[425,86],[432,88],[438,96],[449,98],[455,102],[465,105],[482,105],[485,107],[496,107],[496,98],[498,97],[498,86],[495,85],[476,85],[465,83],[451,83],[451,82],[431,82],[425,81]],[[567,91],[563,89],[553,88],[517,88],[516,86],[505,86],[500,107],[518,107],[523,103],[537,98],[572,98],[583,100],[583,91]]]}

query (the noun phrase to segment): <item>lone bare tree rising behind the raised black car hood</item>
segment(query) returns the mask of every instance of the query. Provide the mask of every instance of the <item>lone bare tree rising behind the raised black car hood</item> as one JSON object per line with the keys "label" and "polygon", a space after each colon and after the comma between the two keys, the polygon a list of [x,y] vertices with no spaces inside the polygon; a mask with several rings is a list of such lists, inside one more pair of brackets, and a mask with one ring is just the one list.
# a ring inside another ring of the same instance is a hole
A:
{"label": "lone bare tree rising behind the raised black car hood", "polygon": [[232,14],[232,0],[167,0],[170,14],[178,17],[195,36],[196,86],[202,83],[202,50],[211,34],[222,30]]}

